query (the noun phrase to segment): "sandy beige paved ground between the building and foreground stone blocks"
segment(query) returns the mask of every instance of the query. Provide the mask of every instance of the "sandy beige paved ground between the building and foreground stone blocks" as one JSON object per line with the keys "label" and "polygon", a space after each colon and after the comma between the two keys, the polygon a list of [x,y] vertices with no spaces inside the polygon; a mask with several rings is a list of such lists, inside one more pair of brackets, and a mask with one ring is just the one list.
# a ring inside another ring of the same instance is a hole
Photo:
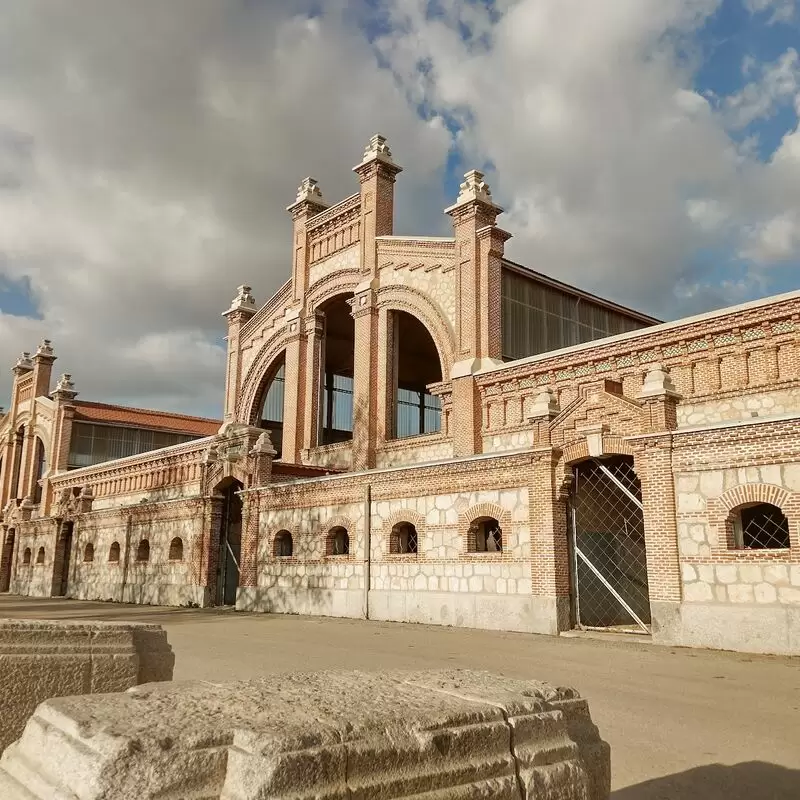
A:
{"label": "sandy beige paved ground between the building and foreground stone blocks", "polygon": [[800,800],[800,659],[357,620],[0,596],[0,617],[164,626],[176,678],[472,667],[575,686],[614,800]]}

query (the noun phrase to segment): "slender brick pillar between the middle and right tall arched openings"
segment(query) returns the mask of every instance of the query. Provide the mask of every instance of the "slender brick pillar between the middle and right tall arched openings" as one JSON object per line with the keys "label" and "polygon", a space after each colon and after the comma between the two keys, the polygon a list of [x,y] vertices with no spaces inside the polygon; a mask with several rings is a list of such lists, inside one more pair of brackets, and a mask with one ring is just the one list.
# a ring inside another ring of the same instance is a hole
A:
{"label": "slender brick pillar between the middle and right tall arched openings", "polygon": [[378,307],[374,283],[367,281],[353,297],[355,349],[353,367],[353,469],[375,466],[378,421]]}

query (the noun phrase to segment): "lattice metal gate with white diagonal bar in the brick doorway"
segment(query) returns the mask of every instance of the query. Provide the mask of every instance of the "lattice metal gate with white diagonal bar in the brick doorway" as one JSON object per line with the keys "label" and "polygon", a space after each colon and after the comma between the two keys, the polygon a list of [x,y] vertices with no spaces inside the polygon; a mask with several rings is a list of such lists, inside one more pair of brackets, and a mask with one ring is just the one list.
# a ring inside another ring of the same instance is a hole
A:
{"label": "lattice metal gate with white diagonal bar in the brick doorway", "polygon": [[570,522],[576,626],[650,632],[642,490],[633,460],[574,468]]}

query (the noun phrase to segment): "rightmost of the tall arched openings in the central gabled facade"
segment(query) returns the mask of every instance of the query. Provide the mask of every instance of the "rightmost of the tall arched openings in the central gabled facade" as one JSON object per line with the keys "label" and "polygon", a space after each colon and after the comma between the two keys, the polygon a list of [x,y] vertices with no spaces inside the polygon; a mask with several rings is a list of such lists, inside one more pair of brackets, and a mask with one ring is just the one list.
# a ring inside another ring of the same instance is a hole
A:
{"label": "rightmost of the tall arched openings in the central gabled facade", "polygon": [[442,427],[442,403],[428,386],[442,380],[439,351],[428,329],[405,311],[389,316],[390,340],[397,356],[389,362],[394,390],[394,436],[436,433]]}

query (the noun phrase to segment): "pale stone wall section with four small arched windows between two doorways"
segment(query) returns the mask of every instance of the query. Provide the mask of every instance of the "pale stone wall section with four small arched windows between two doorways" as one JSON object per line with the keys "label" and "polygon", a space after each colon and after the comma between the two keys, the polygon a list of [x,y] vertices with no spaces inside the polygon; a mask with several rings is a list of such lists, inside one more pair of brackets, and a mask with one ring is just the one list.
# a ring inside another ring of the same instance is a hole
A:
{"label": "pale stone wall section with four small arched windows between two doorways", "polygon": [[[369,488],[369,616],[505,630],[552,630],[532,597],[531,458],[489,458],[454,465],[336,476],[259,492],[258,586],[237,607],[288,613],[363,616],[366,491]],[[338,502],[331,504],[331,498]],[[470,524],[493,517],[502,553],[474,552]],[[415,526],[418,551],[392,552],[392,528]],[[350,555],[330,555],[332,528],[350,534]],[[288,532],[291,557],[277,554]]]}

